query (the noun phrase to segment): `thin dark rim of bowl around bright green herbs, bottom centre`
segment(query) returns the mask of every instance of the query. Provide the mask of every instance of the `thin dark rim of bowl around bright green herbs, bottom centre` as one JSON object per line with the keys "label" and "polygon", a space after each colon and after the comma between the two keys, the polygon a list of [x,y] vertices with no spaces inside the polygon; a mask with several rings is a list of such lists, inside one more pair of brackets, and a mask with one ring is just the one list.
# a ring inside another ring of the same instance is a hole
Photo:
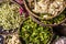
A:
{"label": "thin dark rim of bowl around bright green herbs, bottom centre", "polygon": [[[29,18],[26,18],[25,20],[23,20],[23,22],[25,22],[26,20],[28,20]],[[20,32],[21,32],[21,30],[22,30],[22,26],[23,26],[23,22],[22,22],[22,24],[21,24],[21,26],[20,26]],[[33,21],[34,22],[34,21]],[[36,22],[35,22],[36,23]],[[41,24],[38,24],[38,25],[41,25]],[[43,26],[44,28],[44,26]],[[50,43],[51,44],[51,42],[52,42],[52,40],[54,38],[54,36],[55,36],[55,33],[53,32],[53,30],[52,29],[50,29],[50,32],[52,33],[52,36],[51,36],[51,38],[48,40],[48,42],[47,43]],[[21,37],[20,36],[20,41],[23,43],[23,44],[25,44],[25,41],[23,40],[23,37]]]}

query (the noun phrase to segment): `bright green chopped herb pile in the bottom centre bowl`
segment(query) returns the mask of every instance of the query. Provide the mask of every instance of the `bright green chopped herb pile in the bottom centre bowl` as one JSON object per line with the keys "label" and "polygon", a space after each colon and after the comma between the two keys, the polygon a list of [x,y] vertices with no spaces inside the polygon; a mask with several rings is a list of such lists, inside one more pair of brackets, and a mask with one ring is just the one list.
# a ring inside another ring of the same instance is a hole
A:
{"label": "bright green chopped herb pile in the bottom centre bowl", "polygon": [[26,44],[47,44],[53,33],[50,26],[41,26],[29,16],[22,24],[20,36]]}

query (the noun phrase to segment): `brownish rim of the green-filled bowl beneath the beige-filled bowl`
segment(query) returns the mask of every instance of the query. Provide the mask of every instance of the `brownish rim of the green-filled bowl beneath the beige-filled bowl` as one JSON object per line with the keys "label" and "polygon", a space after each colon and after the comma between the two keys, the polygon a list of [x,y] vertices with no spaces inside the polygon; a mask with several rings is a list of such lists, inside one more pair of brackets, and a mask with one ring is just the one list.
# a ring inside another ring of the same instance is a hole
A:
{"label": "brownish rim of the green-filled bowl beneath the beige-filled bowl", "polygon": [[66,18],[58,24],[44,24],[43,22],[38,21],[37,19],[35,19],[35,16],[31,15],[30,16],[32,18],[32,20],[34,22],[36,22],[37,24],[41,24],[42,26],[57,26],[57,25],[65,25],[64,23],[66,22]]}

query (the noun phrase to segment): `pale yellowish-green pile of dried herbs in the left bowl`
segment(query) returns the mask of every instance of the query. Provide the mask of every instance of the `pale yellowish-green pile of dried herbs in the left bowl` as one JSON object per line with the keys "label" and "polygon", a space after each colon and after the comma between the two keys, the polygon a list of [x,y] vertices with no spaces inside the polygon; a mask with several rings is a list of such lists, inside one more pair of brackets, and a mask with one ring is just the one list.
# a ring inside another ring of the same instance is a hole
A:
{"label": "pale yellowish-green pile of dried herbs in the left bowl", "polygon": [[10,1],[0,3],[0,26],[3,30],[20,28],[22,16],[19,12],[20,6]]}

